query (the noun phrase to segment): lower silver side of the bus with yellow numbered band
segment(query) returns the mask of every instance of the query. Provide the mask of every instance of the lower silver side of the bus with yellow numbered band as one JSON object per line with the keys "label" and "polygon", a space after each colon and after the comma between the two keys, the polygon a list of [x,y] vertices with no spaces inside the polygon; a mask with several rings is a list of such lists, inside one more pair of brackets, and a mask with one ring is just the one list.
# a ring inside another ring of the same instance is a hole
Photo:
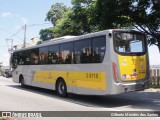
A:
{"label": "lower silver side of the bus with yellow numbered band", "polygon": [[[55,90],[56,80],[63,78],[67,84],[69,93],[83,94],[82,91],[85,91],[84,94],[92,93],[94,95],[95,91],[97,91],[96,93],[102,92],[104,94],[104,91],[107,90],[106,73],[99,71],[105,71],[106,68],[103,65],[101,69],[90,71],[90,68],[94,69],[99,66],[101,65],[73,65],[75,69],[69,69],[66,65],[51,65],[49,67],[45,65],[32,66],[30,67],[32,69],[28,69],[28,66],[19,66],[14,72],[23,68],[27,69],[28,73],[26,74],[24,71],[18,72],[18,74],[14,75],[13,80],[19,83],[18,79],[22,74],[26,85]],[[85,71],[83,70],[84,68]]]}

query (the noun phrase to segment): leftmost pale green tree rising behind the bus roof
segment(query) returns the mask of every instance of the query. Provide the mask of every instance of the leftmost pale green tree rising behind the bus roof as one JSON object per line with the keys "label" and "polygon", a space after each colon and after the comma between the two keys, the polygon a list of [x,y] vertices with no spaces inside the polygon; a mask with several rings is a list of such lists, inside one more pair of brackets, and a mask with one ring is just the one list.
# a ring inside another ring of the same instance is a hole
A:
{"label": "leftmost pale green tree rising behind the bus roof", "polygon": [[[61,36],[60,32],[61,32],[62,27],[58,27],[58,26],[60,26],[64,23],[63,19],[66,19],[66,18],[64,18],[62,16],[67,17],[65,14],[68,13],[68,11],[69,11],[69,8],[67,8],[63,3],[56,3],[51,6],[51,9],[46,14],[45,20],[50,21],[53,24],[53,27],[42,29],[39,32],[40,39],[42,41],[46,41],[46,40]],[[60,21],[60,22],[57,22],[57,21]]]}

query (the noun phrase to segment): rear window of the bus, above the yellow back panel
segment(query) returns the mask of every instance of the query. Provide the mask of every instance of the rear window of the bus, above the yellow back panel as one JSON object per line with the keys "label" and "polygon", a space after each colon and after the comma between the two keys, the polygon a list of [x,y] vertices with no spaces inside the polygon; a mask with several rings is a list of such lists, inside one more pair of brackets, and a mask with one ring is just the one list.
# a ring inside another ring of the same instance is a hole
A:
{"label": "rear window of the bus, above the yellow back panel", "polygon": [[115,32],[115,51],[120,54],[145,53],[145,35],[137,32]]}

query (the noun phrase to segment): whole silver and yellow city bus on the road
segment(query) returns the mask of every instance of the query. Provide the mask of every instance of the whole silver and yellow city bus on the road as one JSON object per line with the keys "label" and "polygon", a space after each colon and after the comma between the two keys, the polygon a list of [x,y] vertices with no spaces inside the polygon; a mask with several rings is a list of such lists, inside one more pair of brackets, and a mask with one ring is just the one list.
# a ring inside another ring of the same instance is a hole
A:
{"label": "whole silver and yellow city bus on the road", "polygon": [[13,81],[68,93],[111,95],[148,88],[144,33],[110,29],[15,50]]}

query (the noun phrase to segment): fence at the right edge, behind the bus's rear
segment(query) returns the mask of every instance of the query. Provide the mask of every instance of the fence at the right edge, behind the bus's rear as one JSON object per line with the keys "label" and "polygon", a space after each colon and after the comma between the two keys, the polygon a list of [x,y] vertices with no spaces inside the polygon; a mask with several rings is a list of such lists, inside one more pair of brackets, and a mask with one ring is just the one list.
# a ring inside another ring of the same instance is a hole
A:
{"label": "fence at the right edge, behind the bus's rear", "polygon": [[150,69],[150,87],[160,88],[160,67],[151,67]]}

